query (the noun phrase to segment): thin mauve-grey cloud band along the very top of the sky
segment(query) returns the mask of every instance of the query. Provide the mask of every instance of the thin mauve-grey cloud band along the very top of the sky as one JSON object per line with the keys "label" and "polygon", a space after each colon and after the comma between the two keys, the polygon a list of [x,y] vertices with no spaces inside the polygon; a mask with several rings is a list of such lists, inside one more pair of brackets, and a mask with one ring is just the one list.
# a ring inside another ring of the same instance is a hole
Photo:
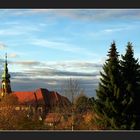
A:
{"label": "thin mauve-grey cloud band along the very top of the sky", "polygon": [[12,9],[1,10],[1,16],[49,15],[50,18],[68,17],[80,20],[140,19],[139,9]]}

